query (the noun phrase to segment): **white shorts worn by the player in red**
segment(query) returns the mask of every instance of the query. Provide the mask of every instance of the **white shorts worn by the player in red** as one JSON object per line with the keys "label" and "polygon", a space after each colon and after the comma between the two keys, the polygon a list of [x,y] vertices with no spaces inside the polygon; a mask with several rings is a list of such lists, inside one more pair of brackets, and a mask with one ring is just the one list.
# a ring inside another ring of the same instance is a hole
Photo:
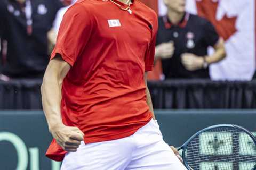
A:
{"label": "white shorts worn by the player in red", "polygon": [[130,137],[81,143],[68,152],[61,170],[187,170],[163,141],[157,121],[151,120]]}

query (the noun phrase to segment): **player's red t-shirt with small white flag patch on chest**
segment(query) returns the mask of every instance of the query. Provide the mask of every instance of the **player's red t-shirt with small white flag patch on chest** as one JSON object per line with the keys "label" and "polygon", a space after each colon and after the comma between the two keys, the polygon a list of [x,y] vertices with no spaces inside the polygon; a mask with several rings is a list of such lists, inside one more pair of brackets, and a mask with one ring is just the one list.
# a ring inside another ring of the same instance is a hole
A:
{"label": "player's red t-shirt with small white flag patch on chest", "polygon": [[[58,53],[71,65],[62,84],[62,121],[81,129],[85,143],[128,137],[151,119],[143,75],[153,69],[157,15],[137,0],[131,10],[81,0],[60,25],[51,59]],[[60,161],[65,153],[53,140],[46,156]]]}

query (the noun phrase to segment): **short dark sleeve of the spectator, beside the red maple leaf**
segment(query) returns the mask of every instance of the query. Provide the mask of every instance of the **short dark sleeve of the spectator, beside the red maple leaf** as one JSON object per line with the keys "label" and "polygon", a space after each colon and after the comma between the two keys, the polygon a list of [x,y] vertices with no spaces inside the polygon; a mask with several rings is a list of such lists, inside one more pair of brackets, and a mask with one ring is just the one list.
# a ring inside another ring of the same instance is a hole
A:
{"label": "short dark sleeve of the spectator, beside the red maple leaf", "polygon": [[206,24],[204,25],[204,35],[205,42],[208,46],[214,46],[219,40],[217,31],[209,21],[206,21]]}

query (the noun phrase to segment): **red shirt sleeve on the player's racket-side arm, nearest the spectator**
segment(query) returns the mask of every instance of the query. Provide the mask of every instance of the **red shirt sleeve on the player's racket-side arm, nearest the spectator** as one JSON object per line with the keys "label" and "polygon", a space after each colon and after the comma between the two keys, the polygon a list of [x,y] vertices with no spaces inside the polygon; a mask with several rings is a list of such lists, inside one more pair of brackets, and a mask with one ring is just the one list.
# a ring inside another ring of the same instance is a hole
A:
{"label": "red shirt sleeve on the player's racket-side arm, nearest the spectator", "polygon": [[153,70],[157,30],[158,30],[157,16],[155,16],[154,24],[152,26],[153,33],[152,33],[151,42],[145,55],[145,72]]}

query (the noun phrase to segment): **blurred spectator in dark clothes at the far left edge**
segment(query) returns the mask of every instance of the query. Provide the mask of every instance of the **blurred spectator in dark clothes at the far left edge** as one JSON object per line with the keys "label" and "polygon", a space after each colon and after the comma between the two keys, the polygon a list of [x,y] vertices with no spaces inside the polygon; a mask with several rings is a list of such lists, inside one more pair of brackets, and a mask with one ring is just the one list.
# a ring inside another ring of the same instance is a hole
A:
{"label": "blurred spectator in dark clothes at the far left edge", "polygon": [[41,78],[49,62],[47,32],[60,0],[2,0],[0,37],[7,41],[2,74],[11,78]]}

